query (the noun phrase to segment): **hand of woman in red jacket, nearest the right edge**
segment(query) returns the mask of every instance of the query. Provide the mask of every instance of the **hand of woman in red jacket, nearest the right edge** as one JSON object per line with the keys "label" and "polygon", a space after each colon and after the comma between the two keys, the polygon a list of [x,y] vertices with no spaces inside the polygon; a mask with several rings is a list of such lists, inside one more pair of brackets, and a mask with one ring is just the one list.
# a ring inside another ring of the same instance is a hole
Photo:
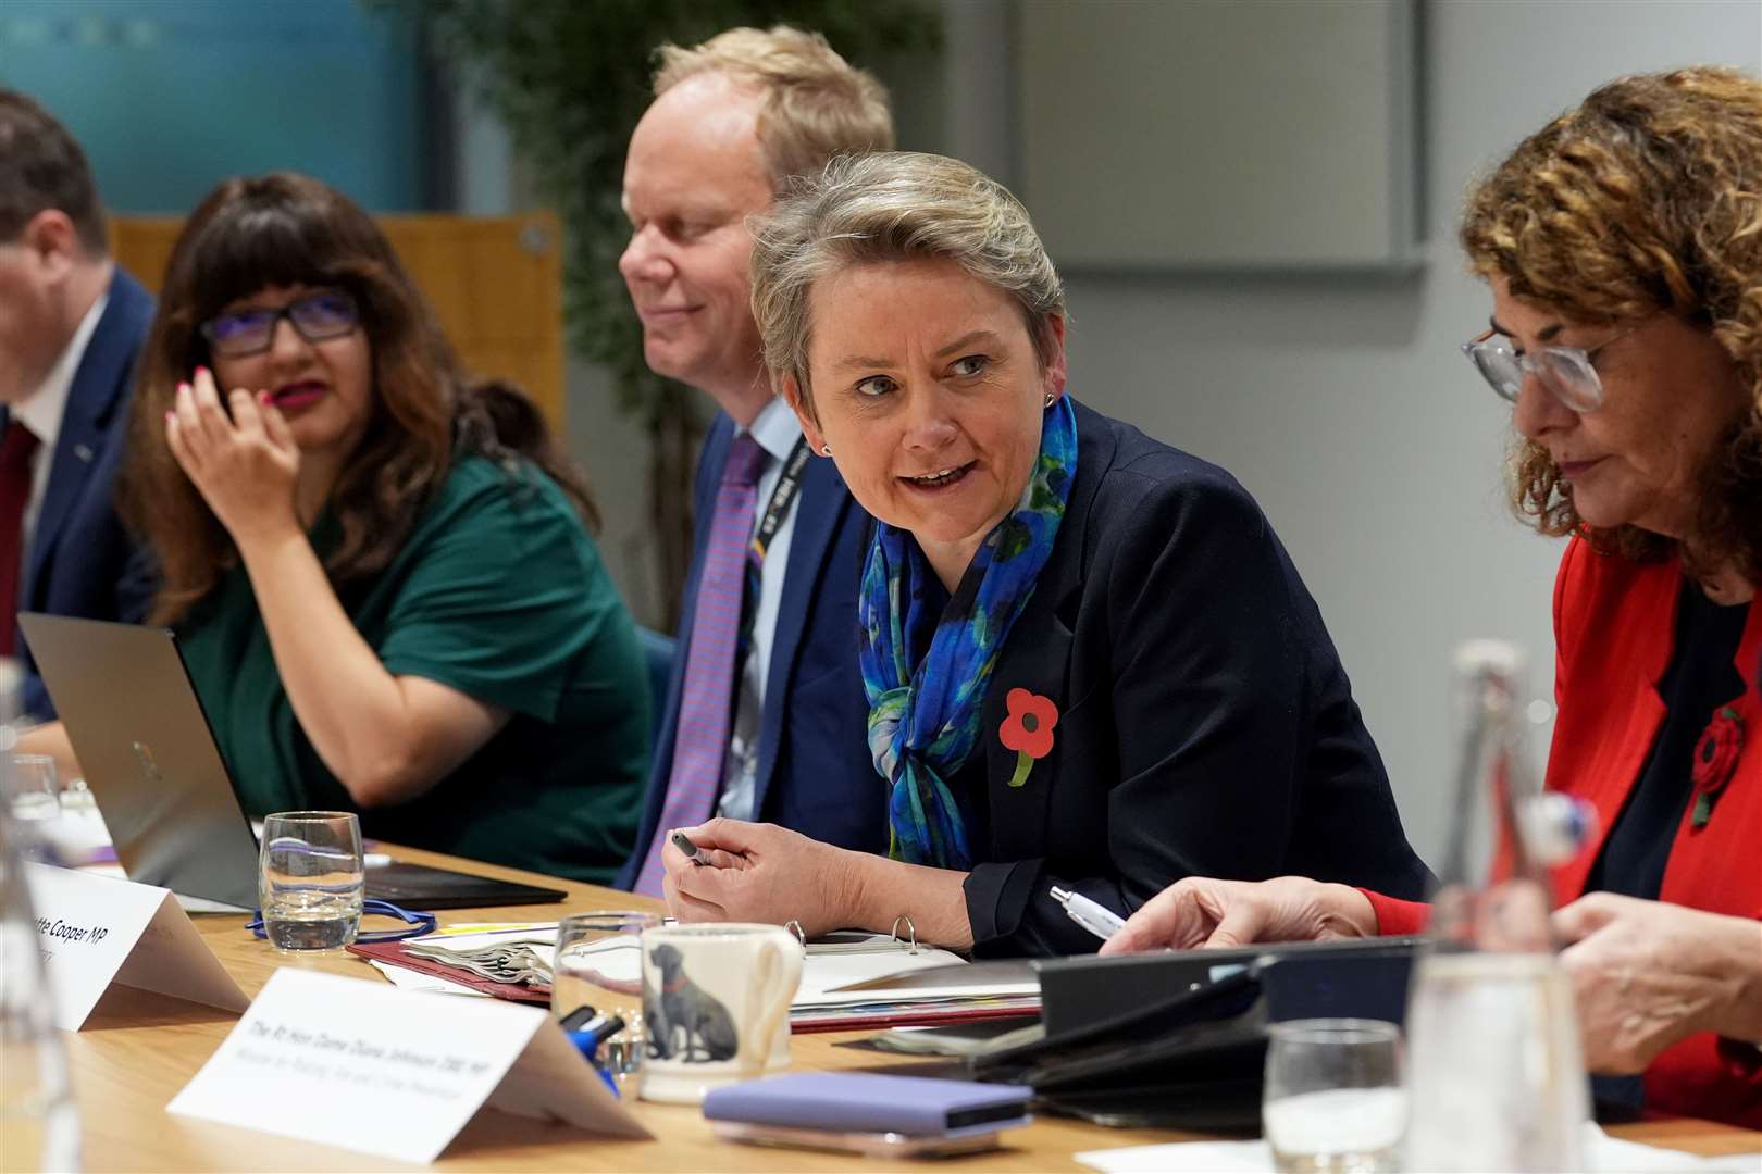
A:
{"label": "hand of woman in red jacket, nearest the right edge", "polygon": [[1762,924],[1591,892],[1554,933],[1591,1072],[1642,1072],[1697,1031],[1762,1040]]}

